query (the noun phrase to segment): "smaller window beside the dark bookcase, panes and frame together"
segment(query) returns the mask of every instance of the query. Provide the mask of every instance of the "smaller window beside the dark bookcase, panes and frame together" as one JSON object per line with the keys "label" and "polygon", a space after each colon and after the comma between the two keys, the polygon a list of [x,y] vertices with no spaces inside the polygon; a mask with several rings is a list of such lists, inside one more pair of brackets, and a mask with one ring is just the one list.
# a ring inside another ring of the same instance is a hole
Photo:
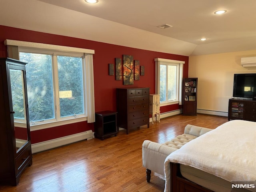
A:
{"label": "smaller window beside the dark bookcase, panes and frame together", "polygon": [[156,92],[160,105],[181,104],[183,61],[156,58]]}

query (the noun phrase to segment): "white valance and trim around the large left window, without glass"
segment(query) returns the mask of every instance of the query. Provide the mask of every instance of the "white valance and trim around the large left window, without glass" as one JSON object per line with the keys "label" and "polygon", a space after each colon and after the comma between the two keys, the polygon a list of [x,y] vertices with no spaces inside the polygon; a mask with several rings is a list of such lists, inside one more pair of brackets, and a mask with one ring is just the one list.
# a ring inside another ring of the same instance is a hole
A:
{"label": "white valance and trim around the large left window, without glass", "polygon": [[[6,39],[4,44],[7,46],[18,46],[18,48],[22,49],[40,49],[44,51],[51,51],[54,52],[73,52],[74,54],[82,53],[85,65],[85,102],[86,102],[86,111],[87,116],[77,116],[77,117],[70,117],[67,119],[62,119],[56,121],[55,119],[47,122],[41,122],[40,124],[30,124],[30,131],[41,130],[46,128],[52,128],[56,126],[62,126],[66,124],[72,124],[76,122],[83,122],[87,121],[88,123],[95,122],[95,104],[94,104],[94,72],[93,72],[93,58],[92,54],[94,54],[94,50],[84,49],[84,48],[75,48],[75,47],[68,47],[68,46],[59,46],[59,45],[51,45],[51,44],[43,44],[43,43],[34,43],[34,42],[25,42],[25,41],[18,41],[18,40],[9,40]],[[18,52],[16,54],[19,54]],[[18,56],[17,56],[18,58]],[[16,122],[17,126],[24,127],[23,123]]]}

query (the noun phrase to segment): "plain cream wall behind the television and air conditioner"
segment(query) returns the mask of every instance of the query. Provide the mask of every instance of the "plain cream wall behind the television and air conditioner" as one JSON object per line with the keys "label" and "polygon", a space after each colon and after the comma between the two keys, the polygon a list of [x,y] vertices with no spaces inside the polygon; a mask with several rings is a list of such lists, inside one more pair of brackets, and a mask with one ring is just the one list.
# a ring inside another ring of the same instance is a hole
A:
{"label": "plain cream wall behind the television and air conditioner", "polygon": [[198,77],[198,112],[226,116],[236,73],[256,73],[244,68],[241,57],[256,56],[256,50],[189,57],[188,77]]}

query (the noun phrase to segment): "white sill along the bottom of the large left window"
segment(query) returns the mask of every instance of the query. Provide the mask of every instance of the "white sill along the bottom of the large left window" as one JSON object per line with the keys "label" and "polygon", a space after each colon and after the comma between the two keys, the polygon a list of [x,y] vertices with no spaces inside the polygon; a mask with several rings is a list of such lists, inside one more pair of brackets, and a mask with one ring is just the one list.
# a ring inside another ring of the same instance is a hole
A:
{"label": "white sill along the bottom of the large left window", "polygon": [[[57,127],[57,126],[62,126],[62,125],[67,125],[67,124],[72,124],[72,123],[78,123],[82,121],[87,121],[87,117],[76,117],[72,119],[65,119],[65,120],[59,120],[59,121],[54,121],[54,122],[40,122],[40,124],[34,124],[30,125],[30,131],[36,131],[36,130],[41,130],[41,129],[47,129],[47,128],[52,128],[52,127]],[[17,127],[23,127],[26,128],[25,123],[21,122],[15,122],[15,126]]]}

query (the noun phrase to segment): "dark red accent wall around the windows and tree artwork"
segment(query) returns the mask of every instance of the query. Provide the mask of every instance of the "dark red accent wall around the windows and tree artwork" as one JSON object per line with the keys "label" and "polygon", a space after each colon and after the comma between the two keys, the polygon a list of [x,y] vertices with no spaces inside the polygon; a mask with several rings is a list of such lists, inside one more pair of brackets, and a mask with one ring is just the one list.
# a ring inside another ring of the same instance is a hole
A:
{"label": "dark red accent wall around the windows and tree artwork", "polygon": [[[0,57],[7,57],[7,48],[4,45],[4,40],[6,39],[95,50],[93,60],[96,112],[102,110],[116,110],[116,88],[129,87],[127,85],[122,85],[122,81],[115,80],[115,76],[108,75],[108,64],[114,64],[115,58],[122,58],[123,54],[134,56],[134,60],[139,60],[140,65],[143,65],[145,69],[145,75],[140,76],[140,80],[134,81],[134,85],[130,87],[150,87],[150,94],[155,93],[154,58],[166,58],[185,61],[183,75],[184,77],[188,77],[188,56],[141,50],[91,40],[35,32],[7,26],[0,26]],[[176,104],[170,106],[163,106],[160,108],[160,110],[161,113],[164,113],[177,110],[179,108],[181,108],[181,106]],[[34,144],[46,140],[84,132],[86,130],[94,131],[93,124],[87,122],[80,122],[75,124],[68,124],[65,126],[47,128],[44,130],[32,131],[31,142],[32,144]]]}

